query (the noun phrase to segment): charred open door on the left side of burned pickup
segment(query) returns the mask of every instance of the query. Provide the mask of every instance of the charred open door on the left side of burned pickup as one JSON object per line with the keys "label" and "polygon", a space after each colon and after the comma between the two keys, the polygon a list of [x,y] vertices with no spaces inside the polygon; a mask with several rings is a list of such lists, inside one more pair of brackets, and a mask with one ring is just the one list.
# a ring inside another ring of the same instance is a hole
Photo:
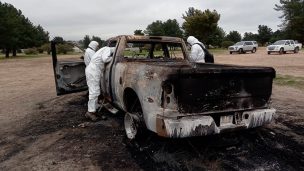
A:
{"label": "charred open door on the left side of burned pickup", "polygon": [[56,44],[51,41],[53,70],[57,95],[85,91],[88,89],[85,76],[85,63],[79,60],[58,61]]}

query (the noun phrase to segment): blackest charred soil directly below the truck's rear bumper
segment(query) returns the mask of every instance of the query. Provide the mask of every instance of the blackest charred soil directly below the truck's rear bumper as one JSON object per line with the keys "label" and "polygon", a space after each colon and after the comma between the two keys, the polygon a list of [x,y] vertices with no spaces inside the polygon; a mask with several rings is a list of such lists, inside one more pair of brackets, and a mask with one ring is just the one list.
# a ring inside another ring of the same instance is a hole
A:
{"label": "blackest charred soil directly below the truck's rear bumper", "polygon": [[271,131],[259,128],[181,140],[153,136],[129,151],[147,159],[139,161],[146,170],[303,170],[304,145]]}

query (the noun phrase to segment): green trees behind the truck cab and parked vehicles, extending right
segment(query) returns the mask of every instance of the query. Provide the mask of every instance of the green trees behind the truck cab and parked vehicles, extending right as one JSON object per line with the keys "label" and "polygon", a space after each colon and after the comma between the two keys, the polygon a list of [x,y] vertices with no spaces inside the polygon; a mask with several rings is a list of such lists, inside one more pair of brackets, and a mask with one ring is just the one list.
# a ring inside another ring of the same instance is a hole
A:
{"label": "green trees behind the truck cab and parked vehicles, extending right", "polygon": [[228,34],[218,26],[220,14],[216,10],[201,11],[190,7],[182,14],[182,26],[175,19],[165,22],[157,20],[149,24],[146,30],[135,30],[135,35],[173,36],[186,38],[189,35],[197,37],[206,45],[228,47],[241,40],[255,40],[264,46],[280,39],[294,39],[304,42],[304,0],[280,0],[274,10],[281,11],[283,23],[280,29],[273,31],[267,25],[258,25],[257,33],[245,32],[244,36],[232,30]]}

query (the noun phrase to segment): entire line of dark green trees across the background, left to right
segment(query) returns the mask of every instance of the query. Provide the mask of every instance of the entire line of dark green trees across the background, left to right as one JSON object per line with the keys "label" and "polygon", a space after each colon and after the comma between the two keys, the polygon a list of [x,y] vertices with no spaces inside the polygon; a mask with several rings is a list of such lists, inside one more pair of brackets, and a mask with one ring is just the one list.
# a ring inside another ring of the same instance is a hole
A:
{"label": "entire line of dark green trees across the background, left to right", "polygon": [[[184,22],[180,26],[176,19],[167,21],[156,20],[149,24],[145,30],[135,30],[135,35],[149,36],[173,36],[186,38],[189,35],[197,37],[206,45],[227,47],[240,40],[256,40],[261,45],[274,42],[279,39],[294,39],[304,42],[304,0],[280,0],[274,10],[283,13],[280,18],[280,29],[273,31],[267,25],[258,25],[257,33],[245,32],[242,36],[238,31],[232,30],[226,33],[219,25],[221,15],[216,10],[199,10],[190,7],[182,18]],[[65,42],[62,37],[55,37]],[[98,36],[84,36],[78,42],[86,48],[90,41],[95,40],[100,45],[104,43]],[[61,45],[59,53],[67,53],[72,47]],[[42,26],[35,26],[21,10],[13,5],[0,2],[0,49],[9,57],[10,53],[16,56],[18,49],[36,47],[33,51],[50,52],[49,33]],[[61,50],[60,50],[61,49]]]}

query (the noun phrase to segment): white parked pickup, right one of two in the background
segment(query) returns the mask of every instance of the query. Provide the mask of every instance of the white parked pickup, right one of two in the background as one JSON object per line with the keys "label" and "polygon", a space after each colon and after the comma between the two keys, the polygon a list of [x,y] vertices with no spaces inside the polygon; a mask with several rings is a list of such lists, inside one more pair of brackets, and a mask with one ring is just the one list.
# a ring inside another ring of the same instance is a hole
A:
{"label": "white parked pickup, right one of two in the background", "polygon": [[296,44],[293,40],[278,40],[275,43],[267,46],[267,53],[268,55],[273,52],[279,54],[285,54],[288,51],[298,53],[301,46],[302,45]]}

